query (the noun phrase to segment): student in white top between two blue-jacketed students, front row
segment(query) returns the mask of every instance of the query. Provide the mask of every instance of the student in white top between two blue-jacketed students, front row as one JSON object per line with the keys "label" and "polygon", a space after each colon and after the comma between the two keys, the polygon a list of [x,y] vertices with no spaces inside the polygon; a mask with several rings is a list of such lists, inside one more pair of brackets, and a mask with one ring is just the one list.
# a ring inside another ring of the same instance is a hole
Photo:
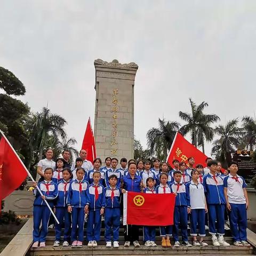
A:
{"label": "student in white top between two blue-jacketed students, front row", "polygon": [[[197,170],[192,171],[191,175],[192,180],[186,185],[188,187],[188,199],[190,200],[190,235],[193,236],[194,246],[208,246],[208,244],[204,241],[205,213],[208,211],[204,195],[204,185],[199,181],[199,172]],[[197,225],[200,237],[199,242],[196,239]]]}

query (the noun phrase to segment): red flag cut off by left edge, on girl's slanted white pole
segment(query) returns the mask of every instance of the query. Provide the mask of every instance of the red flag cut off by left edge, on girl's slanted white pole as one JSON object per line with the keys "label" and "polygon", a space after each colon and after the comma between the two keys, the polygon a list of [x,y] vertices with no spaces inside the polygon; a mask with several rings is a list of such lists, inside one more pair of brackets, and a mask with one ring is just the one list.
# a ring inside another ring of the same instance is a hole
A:
{"label": "red flag cut off by left edge, on girl's slanted white pole", "polygon": [[2,136],[0,140],[0,201],[10,195],[26,179],[28,173],[20,159]]}

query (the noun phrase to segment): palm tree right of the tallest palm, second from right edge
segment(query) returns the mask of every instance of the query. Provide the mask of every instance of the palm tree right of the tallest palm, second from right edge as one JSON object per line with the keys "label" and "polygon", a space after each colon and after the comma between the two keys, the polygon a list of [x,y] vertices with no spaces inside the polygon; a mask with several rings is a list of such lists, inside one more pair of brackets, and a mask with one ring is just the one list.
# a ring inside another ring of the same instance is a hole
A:
{"label": "palm tree right of the tallest palm, second from right edge", "polygon": [[226,125],[217,126],[214,131],[220,138],[213,142],[212,154],[228,165],[231,161],[231,152],[241,144],[243,130],[238,127],[236,118],[228,121]]}

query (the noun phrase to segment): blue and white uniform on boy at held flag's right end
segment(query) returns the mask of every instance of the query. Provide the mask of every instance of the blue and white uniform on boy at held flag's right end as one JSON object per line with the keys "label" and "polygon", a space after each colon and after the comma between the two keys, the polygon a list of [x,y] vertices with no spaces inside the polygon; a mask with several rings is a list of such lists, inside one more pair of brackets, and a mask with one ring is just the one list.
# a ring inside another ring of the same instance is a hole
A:
{"label": "blue and white uniform on boy at held flag's right end", "polygon": [[173,239],[179,241],[179,226],[182,241],[188,241],[188,206],[189,195],[185,183],[177,183],[175,180],[170,185],[171,191],[177,193],[174,207]]}

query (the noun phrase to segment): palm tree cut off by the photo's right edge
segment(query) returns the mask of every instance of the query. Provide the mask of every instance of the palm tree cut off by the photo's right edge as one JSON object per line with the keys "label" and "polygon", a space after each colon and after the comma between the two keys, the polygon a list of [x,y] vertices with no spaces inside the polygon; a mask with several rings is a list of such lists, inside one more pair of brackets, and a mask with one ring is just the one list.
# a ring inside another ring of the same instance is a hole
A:
{"label": "palm tree cut off by the photo's right edge", "polygon": [[246,132],[245,142],[247,149],[253,150],[256,144],[256,121],[250,116],[244,116],[242,118],[243,129]]}

